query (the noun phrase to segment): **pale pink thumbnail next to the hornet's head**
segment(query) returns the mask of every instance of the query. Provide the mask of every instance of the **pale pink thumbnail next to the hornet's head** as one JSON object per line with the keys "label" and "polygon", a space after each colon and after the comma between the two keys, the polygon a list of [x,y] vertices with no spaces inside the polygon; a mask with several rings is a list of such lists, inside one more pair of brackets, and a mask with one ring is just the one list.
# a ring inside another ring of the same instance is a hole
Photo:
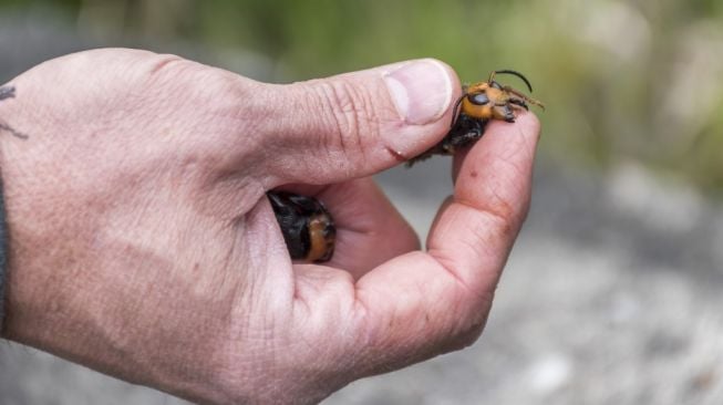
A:
{"label": "pale pink thumbnail next to the hornet's head", "polygon": [[384,82],[407,124],[423,125],[444,115],[452,101],[452,80],[442,63],[420,60],[386,73]]}

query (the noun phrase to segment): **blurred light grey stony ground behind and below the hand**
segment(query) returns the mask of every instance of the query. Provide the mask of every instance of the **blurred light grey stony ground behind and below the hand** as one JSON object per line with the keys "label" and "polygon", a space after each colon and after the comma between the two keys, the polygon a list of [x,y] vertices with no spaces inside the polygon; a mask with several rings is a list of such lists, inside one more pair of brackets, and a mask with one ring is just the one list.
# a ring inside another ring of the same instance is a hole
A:
{"label": "blurred light grey stony ground behind and below the hand", "polygon": [[[0,81],[87,45],[0,17]],[[422,236],[451,191],[447,165],[379,176]],[[543,162],[536,177],[482,339],[324,404],[723,403],[721,207],[634,165],[591,175]],[[3,342],[0,404],[185,402]]]}

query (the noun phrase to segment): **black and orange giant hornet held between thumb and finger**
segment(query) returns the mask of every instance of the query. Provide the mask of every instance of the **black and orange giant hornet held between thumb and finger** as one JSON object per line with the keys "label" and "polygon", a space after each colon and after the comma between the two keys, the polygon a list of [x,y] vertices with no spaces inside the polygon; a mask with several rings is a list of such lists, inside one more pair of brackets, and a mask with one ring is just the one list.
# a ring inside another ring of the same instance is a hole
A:
{"label": "black and orange giant hornet held between thumb and finger", "polygon": [[[515,111],[528,110],[529,104],[545,110],[539,101],[508,85],[499,84],[495,81],[497,74],[515,75],[525,82],[530,93],[533,92],[529,81],[521,73],[512,70],[493,71],[486,82],[462,86],[462,96],[454,104],[447,135],[438,144],[409,159],[407,167],[432,155],[453,155],[456,150],[471,146],[482,137],[490,120],[514,123]],[[268,191],[266,195],[291,258],[308,262],[330,260],[337,230],[331,214],[321,201],[285,191]]]}

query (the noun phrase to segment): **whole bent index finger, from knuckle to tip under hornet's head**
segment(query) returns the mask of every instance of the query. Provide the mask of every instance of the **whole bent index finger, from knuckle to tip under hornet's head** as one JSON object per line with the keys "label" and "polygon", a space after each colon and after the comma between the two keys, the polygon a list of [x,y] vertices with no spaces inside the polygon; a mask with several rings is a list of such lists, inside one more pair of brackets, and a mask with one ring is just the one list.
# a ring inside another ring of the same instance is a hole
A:
{"label": "whole bent index finger, from knuckle to tip under hornet's head", "polygon": [[490,123],[458,162],[454,196],[435,219],[427,252],[397,257],[357,282],[369,356],[410,364],[478,336],[529,207],[538,137],[530,113],[515,124]]}

